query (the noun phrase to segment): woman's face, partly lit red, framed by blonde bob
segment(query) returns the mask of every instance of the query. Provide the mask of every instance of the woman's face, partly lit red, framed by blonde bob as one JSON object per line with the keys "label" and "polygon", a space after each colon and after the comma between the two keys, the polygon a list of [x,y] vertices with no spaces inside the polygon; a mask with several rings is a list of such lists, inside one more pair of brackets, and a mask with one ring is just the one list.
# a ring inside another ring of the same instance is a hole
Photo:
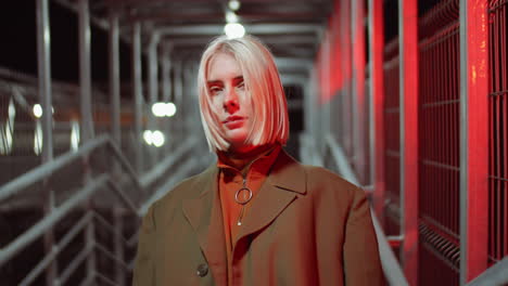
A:
{"label": "woman's face, partly lit red, framed by blonde bob", "polygon": [[232,55],[218,53],[212,57],[207,87],[217,125],[230,143],[229,152],[245,153],[253,150],[251,144],[245,143],[254,114],[251,95],[245,90],[240,65]]}

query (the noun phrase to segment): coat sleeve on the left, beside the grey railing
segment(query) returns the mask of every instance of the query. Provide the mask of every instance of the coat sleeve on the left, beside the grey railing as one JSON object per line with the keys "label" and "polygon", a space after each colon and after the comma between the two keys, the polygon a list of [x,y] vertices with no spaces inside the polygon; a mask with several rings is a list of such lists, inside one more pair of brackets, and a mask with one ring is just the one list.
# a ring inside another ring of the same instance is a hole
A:
{"label": "coat sleeve on the left, beside the grey railing", "polygon": [[143,218],[139,231],[138,251],[132,276],[132,286],[155,285],[153,251],[155,250],[155,221],[153,205]]}

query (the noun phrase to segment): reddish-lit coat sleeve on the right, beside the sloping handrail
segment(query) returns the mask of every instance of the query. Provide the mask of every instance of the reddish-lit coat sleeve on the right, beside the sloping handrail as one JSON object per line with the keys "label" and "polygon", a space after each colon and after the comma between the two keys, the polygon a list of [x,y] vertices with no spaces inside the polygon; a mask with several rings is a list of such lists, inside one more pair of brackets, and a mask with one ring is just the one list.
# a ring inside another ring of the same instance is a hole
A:
{"label": "reddish-lit coat sleeve on the right, beside the sloping handrail", "polygon": [[361,188],[353,192],[343,250],[345,285],[384,285],[378,239]]}

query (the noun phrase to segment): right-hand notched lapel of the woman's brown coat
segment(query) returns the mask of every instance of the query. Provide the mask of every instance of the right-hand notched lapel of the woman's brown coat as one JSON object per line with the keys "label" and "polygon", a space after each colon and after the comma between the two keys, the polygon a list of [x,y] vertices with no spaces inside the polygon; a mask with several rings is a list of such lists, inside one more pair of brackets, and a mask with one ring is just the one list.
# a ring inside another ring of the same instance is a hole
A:
{"label": "right-hand notched lapel of the woman's brown coat", "polygon": [[305,194],[305,171],[296,160],[282,150],[268,178],[252,202],[252,207],[233,244],[233,249],[242,237],[271,223],[297,197],[297,194]]}

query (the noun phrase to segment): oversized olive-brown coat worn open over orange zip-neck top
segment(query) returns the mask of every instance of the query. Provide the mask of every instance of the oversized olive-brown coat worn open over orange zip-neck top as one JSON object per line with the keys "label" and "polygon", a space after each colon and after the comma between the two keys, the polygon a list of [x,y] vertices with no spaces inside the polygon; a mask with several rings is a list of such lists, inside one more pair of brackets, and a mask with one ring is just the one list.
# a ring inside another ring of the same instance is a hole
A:
{"label": "oversized olive-brown coat worn open over orange zip-neck top", "polygon": [[[211,166],[152,205],[140,231],[134,285],[227,285],[217,173]],[[282,151],[250,204],[233,242],[233,285],[383,284],[360,188]]]}

